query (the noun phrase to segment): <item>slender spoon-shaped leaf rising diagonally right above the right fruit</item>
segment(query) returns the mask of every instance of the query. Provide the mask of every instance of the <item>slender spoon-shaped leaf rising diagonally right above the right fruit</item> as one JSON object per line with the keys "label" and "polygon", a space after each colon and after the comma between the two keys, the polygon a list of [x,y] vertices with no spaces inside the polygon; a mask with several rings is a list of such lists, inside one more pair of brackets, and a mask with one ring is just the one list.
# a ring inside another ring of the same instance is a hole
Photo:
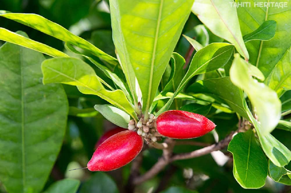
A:
{"label": "slender spoon-shaped leaf rising diagonally right above the right fruit", "polygon": [[228,62],[232,55],[233,46],[228,43],[212,43],[197,51],[173,97],[157,112],[157,115],[170,108],[175,96],[182,91],[192,77],[221,68]]}

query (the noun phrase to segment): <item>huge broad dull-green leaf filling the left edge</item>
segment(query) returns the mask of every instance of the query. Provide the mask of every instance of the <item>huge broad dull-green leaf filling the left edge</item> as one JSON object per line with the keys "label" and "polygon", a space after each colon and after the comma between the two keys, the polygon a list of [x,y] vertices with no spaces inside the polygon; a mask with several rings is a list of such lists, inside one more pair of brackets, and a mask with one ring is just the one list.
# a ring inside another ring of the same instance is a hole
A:
{"label": "huge broad dull-green leaf filling the left edge", "polygon": [[11,43],[0,48],[0,180],[9,193],[42,190],[65,135],[67,97],[61,85],[42,84],[44,59]]}

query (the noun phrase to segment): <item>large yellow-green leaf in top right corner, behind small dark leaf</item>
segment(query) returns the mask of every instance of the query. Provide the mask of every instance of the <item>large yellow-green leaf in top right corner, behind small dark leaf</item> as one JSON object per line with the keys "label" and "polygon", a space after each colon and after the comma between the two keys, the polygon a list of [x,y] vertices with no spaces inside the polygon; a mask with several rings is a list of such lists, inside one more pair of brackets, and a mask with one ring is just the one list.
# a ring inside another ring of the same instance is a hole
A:
{"label": "large yellow-green leaf in top right corner, behind small dark leaf", "polygon": [[[250,53],[249,62],[257,66],[265,77],[268,77],[274,66],[282,58],[291,42],[291,1],[285,1],[287,7],[255,6],[254,0],[237,0],[237,3],[247,2],[249,6],[239,6],[237,15],[242,34],[248,34],[259,28],[265,21],[274,20],[277,28],[274,38],[269,41],[251,41],[246,43]],[[267,3],[269,0],[261,2]],[[275,1],[276,2],[276,1]]]}

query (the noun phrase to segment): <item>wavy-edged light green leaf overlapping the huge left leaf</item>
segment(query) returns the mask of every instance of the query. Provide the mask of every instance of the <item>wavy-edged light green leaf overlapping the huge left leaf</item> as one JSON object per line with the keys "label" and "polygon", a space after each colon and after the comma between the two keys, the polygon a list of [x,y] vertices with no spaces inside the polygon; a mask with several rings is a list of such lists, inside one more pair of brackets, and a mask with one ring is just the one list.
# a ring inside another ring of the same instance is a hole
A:
{"label": "wavy-edged light green leaf overlapping the huge left leaf", "polygon": [[78,58],[52,58],[42,62],[43,83],[77,86],[84,94],[97,95],[136,118],[132,104],[121,90],[108,91],[86,62]]}

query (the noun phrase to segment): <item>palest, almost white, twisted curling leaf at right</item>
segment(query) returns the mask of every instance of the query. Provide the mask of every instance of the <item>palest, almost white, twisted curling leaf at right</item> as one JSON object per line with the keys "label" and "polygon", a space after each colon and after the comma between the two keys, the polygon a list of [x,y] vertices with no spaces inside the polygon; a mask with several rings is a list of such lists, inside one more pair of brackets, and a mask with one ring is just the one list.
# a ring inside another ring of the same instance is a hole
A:
{"label": "palest, almost white, twisted curling leaf at right", "polygon": [[258,74],[253,68],[255,66],[251,66],[239,54],[235,54],[230,68],[230,80],[247,93],[258,114],[261,134],[267,135],[276,127],[281,118],[281,101],[275,91],[251,77],[253,74]]}

